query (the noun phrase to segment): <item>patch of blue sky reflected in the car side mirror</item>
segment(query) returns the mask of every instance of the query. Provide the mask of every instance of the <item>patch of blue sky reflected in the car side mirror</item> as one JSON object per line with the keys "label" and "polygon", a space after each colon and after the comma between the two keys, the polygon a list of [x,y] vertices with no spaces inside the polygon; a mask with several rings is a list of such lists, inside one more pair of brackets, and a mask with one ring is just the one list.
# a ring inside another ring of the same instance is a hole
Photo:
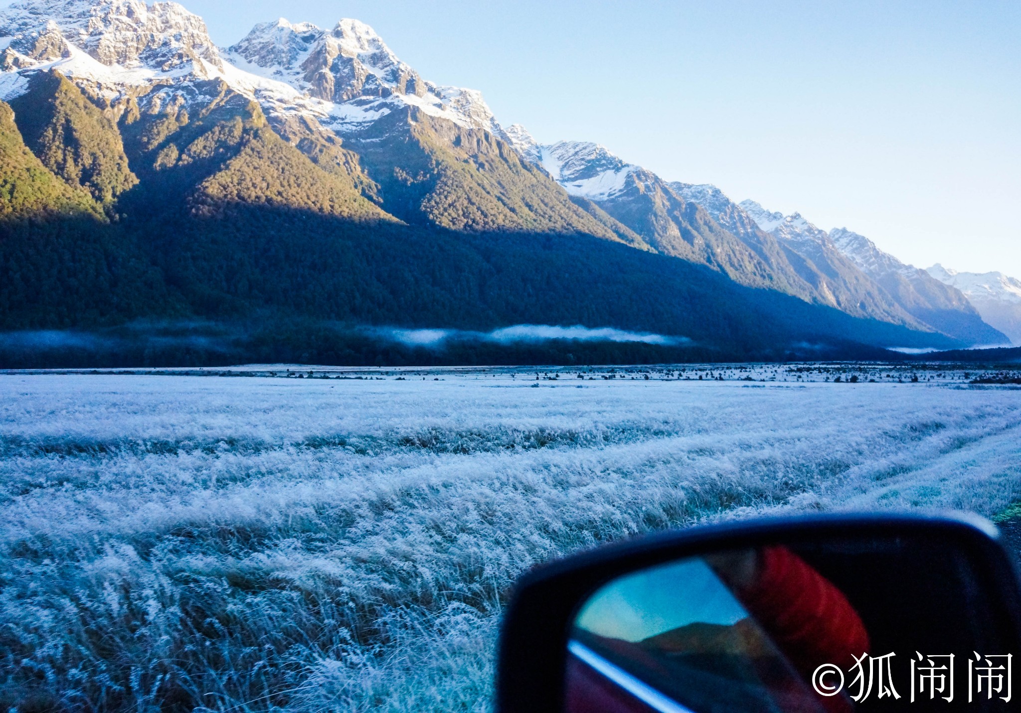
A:
{"label": "patch of blue sky reflected in the car side mirror", "polygon": [[585,603],[575,623],[635,643],[694,622],[730,626],[747,616],[726,584],[696,558],[612,581]]}

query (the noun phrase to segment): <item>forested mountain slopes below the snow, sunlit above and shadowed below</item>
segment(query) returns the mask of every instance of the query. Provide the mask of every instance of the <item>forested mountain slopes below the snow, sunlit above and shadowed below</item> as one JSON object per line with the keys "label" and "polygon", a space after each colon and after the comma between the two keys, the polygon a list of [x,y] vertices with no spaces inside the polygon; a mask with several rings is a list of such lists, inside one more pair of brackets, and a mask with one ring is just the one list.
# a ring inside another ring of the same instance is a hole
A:
{"label": "forested mountain slopes below the snow, sunlit above and shadowed below", "polygon": [[[613,363],[959,346],[657,254],[479,132],[441,141],[442,125],[416,123],[401,168],[382,149],[278,133],[256,104],[207,85],[198,90],[213,99],[191,113],[134,99],[101,111],[58,74],[39,75],[13,112],[0,104],[0,365]],[[364,328],[522,323],[687,342],[423,349]]]}

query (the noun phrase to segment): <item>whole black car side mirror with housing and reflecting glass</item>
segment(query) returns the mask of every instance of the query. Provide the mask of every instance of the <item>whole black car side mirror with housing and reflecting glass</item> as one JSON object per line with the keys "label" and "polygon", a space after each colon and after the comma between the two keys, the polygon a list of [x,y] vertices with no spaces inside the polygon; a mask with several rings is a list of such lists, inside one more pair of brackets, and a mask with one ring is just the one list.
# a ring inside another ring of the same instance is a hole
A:
{"label": "whole black car side mirror with housing and reflecting glass", "polygon": [[1021,599],[996,537],[966,515],[764,519],[543,566],[505,612],[496,710],[1008,710]]}

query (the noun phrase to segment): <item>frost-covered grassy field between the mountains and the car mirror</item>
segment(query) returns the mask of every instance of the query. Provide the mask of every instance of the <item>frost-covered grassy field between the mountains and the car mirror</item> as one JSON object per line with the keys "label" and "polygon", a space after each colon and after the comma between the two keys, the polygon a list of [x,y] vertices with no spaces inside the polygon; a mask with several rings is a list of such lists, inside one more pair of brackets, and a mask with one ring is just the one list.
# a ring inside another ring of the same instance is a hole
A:
{"label": "frost-covered grassy field between the mountains and the car mirror", "polygon": [[535,563],[1021,498],[1017,390],[410,379],[0,376],[0,708],[481,711]]}

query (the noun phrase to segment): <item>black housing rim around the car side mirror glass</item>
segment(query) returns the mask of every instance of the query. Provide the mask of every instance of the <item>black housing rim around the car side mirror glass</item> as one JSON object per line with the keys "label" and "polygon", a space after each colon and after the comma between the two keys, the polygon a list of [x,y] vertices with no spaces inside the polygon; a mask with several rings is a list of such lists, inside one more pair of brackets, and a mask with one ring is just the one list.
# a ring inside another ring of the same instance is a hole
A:
{"label": "black housing rim around the car side mirror glass", "polygon": [[[981,593],[986,619],[1002,641],[1021,642],[1021,594],[1013,562],[995,527],[969,515],[828,514],[696,526],[607,546],[536,568],[519,581],[504,615],[497,659],[498,713],[563,713],[565,668],[579,607],[619,577],[718,551],[827,540],[932,543],[967,561],[969,589]],[[892,592],[877,590],[882,606]],[[934,625],[953,625],[946,622]],[[962,626],[964,624],[961,624]],[[913,652],[912,652],[913,653]],[[970,653],[970,652],[969,652]],[[1010,653],[1010,652],[1004,652]]]}

